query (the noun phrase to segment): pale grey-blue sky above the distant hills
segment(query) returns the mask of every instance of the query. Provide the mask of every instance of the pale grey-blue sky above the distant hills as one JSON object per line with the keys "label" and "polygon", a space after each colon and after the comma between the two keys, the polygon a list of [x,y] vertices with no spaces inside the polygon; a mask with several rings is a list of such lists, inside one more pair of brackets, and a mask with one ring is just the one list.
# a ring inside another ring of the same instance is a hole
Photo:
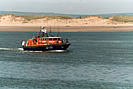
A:
{"label": "pale grey-blue sky above the distant hills", "polygon": [[133,0],[1,0],[0,11],[64,14],[133,13]]}

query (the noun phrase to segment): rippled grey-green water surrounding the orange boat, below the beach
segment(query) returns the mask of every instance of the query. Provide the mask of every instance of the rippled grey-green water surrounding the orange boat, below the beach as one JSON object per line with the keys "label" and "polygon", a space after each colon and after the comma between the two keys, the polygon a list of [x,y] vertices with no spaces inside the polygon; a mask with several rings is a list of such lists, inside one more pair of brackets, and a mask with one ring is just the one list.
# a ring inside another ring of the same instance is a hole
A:
{"label": "rippled grey-green water surrounding the orange boat, below the beach", "polygon": [[0,89],[133,89],[133,32],[61,33],[64,53],[25,52],[33,32],[0,32]]}

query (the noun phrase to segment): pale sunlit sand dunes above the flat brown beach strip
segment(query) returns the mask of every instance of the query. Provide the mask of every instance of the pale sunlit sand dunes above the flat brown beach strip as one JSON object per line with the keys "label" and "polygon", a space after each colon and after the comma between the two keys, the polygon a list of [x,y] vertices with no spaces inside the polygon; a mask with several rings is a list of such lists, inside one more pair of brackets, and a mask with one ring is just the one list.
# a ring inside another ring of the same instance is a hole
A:
{"label": "pale sunlit sand dunes above the flat brown beach strip", "polygon": [[27,20],[23,16],[3,15],[0,16],[1,26],[111,26],[123,25],[123,23],[112,21],[111,19],[104,19],[99,16],[88,16],[84,18],[59,19],[44,17],[41,19]]}

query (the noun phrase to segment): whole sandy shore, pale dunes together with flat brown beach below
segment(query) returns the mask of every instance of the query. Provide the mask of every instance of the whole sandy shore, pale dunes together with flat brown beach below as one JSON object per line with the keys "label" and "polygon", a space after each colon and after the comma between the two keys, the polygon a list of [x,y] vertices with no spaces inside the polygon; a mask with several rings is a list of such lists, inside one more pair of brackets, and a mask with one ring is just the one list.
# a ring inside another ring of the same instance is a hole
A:
{"label": "whole sandy shore, pale dunes together with flat brown beach below", "polygon": [[[26,19],[24,16],[2,15],[0,16],[0,31],[37,31],[39,26],[45,25],[58,31],[133,31],[132,22],[117,22],[112,18],[100,16],[88,16],[82,18],[36,18]],[[14,28],[14,30],[12,29]],[[114,29],[118,30],[114,30]]]}

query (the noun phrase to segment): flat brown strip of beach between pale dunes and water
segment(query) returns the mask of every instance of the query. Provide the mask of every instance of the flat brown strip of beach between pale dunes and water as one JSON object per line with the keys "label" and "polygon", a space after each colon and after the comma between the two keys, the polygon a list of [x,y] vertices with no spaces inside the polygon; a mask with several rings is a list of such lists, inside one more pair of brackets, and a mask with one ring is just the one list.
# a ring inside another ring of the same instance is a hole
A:
{"label": "flat brown strip of beach between pale dunes and water", "polygon": [[[133,26],[52,26],[52,32],[133,32]],[[0,31],[38,32],[40,26],[0,26]]]}

